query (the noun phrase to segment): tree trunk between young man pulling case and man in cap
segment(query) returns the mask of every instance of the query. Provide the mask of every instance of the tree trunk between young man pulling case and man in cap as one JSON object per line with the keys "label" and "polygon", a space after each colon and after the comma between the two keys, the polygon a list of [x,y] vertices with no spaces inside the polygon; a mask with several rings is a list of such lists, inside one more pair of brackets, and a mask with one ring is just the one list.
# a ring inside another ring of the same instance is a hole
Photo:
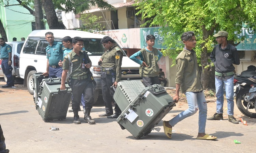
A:
{"label": "tree trunk between young man pulling case and man in cap", "polygon": [[[214,32],[214,27],[212,30],[208,31],[203,26],[203,40],[212,35]],[[203,47],[205,44],[201,44]],[[215,67],[208,62],[208,55],[207,55],[207,48],[204,47],[203,51],[201,52],[201,64],[202,64],[202,74],[201,74],[201,82],[203,85],[203,89],[215,89]]]}

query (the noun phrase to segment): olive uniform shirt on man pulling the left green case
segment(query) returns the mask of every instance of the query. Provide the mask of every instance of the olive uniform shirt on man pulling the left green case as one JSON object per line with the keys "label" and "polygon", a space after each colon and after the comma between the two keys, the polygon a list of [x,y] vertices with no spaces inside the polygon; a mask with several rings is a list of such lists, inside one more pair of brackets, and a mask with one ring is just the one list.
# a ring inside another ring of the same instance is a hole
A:
{"label": "olive uniform shirt on man pulling the left green case", "polygon": [[[81,77],[83,75],[87,75],[89,69],[88,68],[82,68],[82,63],[84,62],[84,52],[83,51],[80,51],[80,56],[77,55],[75,52],[71,51],[69,53],[70,55],[70,59],[71,59],[71,62],[72,62],[72,72],[70,74],[71,77]],[[87,55],[87,61],[88,63],[91,62],[89,56]],[[70,67],[69,67],[69,59],[68,59],[68,56],[66,55],[64,57],[64,60],[63,60],[63,66],[62,66],[62,69],[63,70],[68,70]]]}

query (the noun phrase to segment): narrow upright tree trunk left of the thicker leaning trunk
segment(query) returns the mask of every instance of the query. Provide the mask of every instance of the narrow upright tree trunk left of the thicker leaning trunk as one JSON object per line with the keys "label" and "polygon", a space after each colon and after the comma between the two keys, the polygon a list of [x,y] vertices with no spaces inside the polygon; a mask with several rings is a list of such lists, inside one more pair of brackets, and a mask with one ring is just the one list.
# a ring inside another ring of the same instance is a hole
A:
{"label": "narrow upright tree trunk left of the thicker leaning trunk", "polygon": [[44,29],[43,11],[40,0],[34,0],[35,8],[35,30]]}

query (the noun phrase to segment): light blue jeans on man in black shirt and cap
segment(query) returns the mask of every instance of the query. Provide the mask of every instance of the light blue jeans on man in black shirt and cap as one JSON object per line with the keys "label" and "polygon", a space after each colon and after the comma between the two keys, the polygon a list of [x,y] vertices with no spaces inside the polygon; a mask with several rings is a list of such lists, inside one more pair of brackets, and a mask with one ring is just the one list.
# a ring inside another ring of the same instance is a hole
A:
{"label": "light blue jeans on man in black shirt and cap", "polygon": [[224,84],[226,90],[226,98],[228,102],[228,115],[234,115],[234,76],[228,80],[219,80],[215,78],[215,88],[217,97],[216,113],[223,114],[224,103]]}

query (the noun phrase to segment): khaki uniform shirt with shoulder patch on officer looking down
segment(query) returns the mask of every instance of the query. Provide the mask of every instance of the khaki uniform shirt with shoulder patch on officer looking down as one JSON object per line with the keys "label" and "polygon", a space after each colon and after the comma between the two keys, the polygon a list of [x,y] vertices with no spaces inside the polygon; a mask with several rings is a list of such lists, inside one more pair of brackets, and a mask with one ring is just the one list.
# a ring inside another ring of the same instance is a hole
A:
{"label": "khaki uniform shirt with shoulder patch on officer looking down", "polygon": [[103,55],[100,57],[103,61],[101,63],[102,68],[112,67],[112,69],[116,72],[116,80],[115,82],[119,82],[122,77],[122,60],[123,53],[117,45],[113,46],[111,49],[105,51]]}

